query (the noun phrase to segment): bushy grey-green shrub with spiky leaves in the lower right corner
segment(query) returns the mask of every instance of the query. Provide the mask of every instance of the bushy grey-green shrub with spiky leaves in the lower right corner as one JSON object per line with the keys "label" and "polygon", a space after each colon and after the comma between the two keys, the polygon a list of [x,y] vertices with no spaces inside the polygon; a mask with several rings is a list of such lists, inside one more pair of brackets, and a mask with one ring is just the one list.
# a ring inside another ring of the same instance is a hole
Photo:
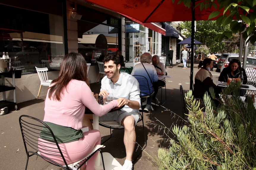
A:
{"label": "bushy grey-green shrub with spiky leaves in the lower right corner", "polygon": [[[169,138],[169,150],[160,148],[154,157],[159,170],[256,169],[256,110],[250,98],[247,103],[240,99],[240,86],[231,82],[223,89],[221,99],[215,98],[218,108],[206,93],[205,116],[192,91],[185,94],[189,125],[169,129],[176,139]],[[213,89],[210,93],[215,96]]]}

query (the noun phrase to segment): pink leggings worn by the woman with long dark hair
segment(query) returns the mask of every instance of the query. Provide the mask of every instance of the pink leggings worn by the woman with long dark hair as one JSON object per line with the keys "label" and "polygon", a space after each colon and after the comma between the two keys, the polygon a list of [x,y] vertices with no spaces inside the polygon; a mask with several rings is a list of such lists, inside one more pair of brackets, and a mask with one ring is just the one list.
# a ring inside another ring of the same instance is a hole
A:
{"label": "pink leggings worn by the woman with long dark hair", "polygon": [[[82,159],[86,155],[88,155],[92,151],[92,149],[94,148],[95,145],[100,145],[101,135],[98,130],[95,130],[95,129],[89,130],[88,132],[84,132],[83,135],[84,135],[83,138],[80,138],[77,141],[69,142],[69,143],[59,143],[59,147],[64,155],[64,158],[67,161],[67,164],[79,161],[80,159]],[[47,144],[47,143],[42,143],[40,141],[48,142],[46,140],[39,138],[39,142],[38,142],[39,145],[40,144],[47,145],[49,147],[56,148],[55,143]],[[48,143],[50,143],[50,142],[48,142]],[[40,146],[39,148],[42,148],[42,146]],[[39,152],[41,152],[40,149],[39,149]],[[44,150],[42,152],[46,152],[46,151]],[[43,153],[41,153],[41,155],[43,155],[47,158],[50,158],[50,159],[58,162],[59,164],[64,165],[63,159],[61,157],[51,156],[51,155],[47,155],[47,154],[43,154]],[[92,156],[87,161],[86,170],[94,170],[94,164],[95,164],[97,155],[98,155],[98,153],[95,153],[94,156]]]}

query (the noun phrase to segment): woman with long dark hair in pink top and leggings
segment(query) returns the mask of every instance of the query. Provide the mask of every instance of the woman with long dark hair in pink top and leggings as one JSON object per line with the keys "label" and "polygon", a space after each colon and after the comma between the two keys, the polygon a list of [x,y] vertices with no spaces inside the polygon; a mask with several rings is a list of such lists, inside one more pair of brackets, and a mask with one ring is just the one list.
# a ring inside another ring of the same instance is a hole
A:
{"label": "woman with long dark hair in pink top and leggings", "polygon": [[[98,130],[81,130],[85,108],[102,116],[118,106],[118,100],[113,100],[104,106],[99,105],[86,84],[86,70],[86,61],[81,54],[67,54],[61,62],[59,77],[52,81],[45,99],[43,121],[52,129],[68,164],[85,157],[101,142]],[[52,145],[49,139],[41,142]],[[61,157],[56,158],[43,152],[41,155],[64,164]],[[97,154],[92,156],[87,161],[87,167],[81,169],[94,170],[96,157]]]}

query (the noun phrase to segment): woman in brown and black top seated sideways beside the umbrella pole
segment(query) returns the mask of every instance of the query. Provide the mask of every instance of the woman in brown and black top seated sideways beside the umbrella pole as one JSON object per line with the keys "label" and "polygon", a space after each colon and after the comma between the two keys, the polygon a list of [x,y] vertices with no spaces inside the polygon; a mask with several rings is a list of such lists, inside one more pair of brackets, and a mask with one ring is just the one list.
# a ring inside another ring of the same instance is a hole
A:
{"label": "woman in brown and black top seated sideways beside the umbrella pole", "polygon": [[199,62],[198,69],[201,68],[197,74],[195,75],[195,84],[193,95],[195,98],[203,98],[205,92],[209,92],[209,88],[216,88],[212,80],[212,75],[210,69],[213,67],[213,60],[210,58],[206,58],[203,61]]}

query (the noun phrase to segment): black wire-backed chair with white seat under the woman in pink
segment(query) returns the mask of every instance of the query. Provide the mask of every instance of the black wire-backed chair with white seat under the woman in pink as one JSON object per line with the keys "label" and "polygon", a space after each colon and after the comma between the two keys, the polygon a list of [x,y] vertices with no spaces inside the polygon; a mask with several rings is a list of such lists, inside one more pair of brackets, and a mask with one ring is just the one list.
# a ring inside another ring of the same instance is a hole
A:
{"label": "black wire-backed chair with white seat under the woman in pink", "polygon": [[[95,153],[97,153],[97,151],[101,153],[102,165],[103,165],[103,169],[105,170],[103,156],[100,150],[101,148],[104,148],[103,145],[96,145],[91,151],[91,153],[89,153],[89,155],[85,156],[84,158],[80,159],[77,162],[67,164],[67,161],[63,155],[63,152],[60,149],[60,146],[56,140],[56,137],[54,136],[52,130],[50,129],[50,127],[48,127],[47,124],[45,124],[44,122],[42,122],[37,118],[27,116],[27,115],[21,115],[19,118],[19,123],[20,123],[22,139],[23,139],[23,143],[24,143],[25,151],[27,155],[25,170],[27,169],[29,158],[33,155],[39,156],[43,158],[45,161],[53,165],[59,166],[65,170],[80,169],[80,167],[83,166]],[[46,140],[44,139],[45,137],[47,137],[47,135],[41,134],[42,127],[47,128],[47,130],[50,132],[50,136],[53,137],[53,140],[49,140],[49,142],[45,142]],[[49,146],[49,143],[52,145]],[[54,156],[58,160],[63,159],[64,164],[61,165],[56,161],[54,161],[53,159],[50,159],[43,155],[49,155],[50,157]],[[34,163],[35,162],[33,162],[33,164]]]}

